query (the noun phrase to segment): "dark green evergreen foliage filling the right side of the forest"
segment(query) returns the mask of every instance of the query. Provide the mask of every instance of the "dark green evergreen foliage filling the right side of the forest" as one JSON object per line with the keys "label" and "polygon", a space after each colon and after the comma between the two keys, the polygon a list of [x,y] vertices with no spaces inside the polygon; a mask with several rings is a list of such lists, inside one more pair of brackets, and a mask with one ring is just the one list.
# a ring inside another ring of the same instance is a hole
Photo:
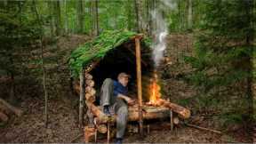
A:
{"label": "dark green evergreen foliage filling the right side of the forest", "polygon": [[194,68],[186,79],[200,91],[197,109],[219,109],[223,126],[248,121],[246,111],[252,103],[252,93],[246,93],[251,85],[244,86],[252,78],[255,15],[250,2],[204,1],[194,55],[184,57]]}

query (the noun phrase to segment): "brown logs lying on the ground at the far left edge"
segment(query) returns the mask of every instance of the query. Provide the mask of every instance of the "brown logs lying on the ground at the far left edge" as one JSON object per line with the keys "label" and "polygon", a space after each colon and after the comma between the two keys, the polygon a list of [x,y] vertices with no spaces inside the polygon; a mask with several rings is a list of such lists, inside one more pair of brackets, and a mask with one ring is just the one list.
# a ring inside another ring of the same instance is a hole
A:
{"label": "brown logs lying on the ground at the far left edge", "polygon": [[21,116],[22,111],[0,98],[0,121],[7,122],[12,114]]}

